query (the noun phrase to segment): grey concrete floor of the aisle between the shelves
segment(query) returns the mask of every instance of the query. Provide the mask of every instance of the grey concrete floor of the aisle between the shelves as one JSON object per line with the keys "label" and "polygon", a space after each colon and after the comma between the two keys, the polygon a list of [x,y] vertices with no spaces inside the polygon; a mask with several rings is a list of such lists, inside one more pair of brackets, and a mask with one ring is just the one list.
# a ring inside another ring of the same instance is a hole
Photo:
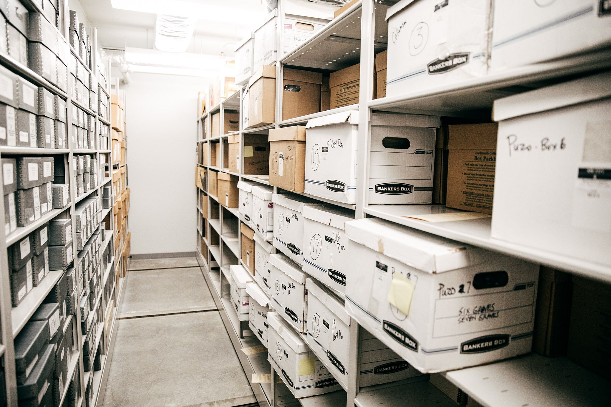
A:
{"label": "grey concrete floor of the aisle between the shelves", "polygon": [[104,407],[255,403],[199,268],[130,269],[121,308]]}

